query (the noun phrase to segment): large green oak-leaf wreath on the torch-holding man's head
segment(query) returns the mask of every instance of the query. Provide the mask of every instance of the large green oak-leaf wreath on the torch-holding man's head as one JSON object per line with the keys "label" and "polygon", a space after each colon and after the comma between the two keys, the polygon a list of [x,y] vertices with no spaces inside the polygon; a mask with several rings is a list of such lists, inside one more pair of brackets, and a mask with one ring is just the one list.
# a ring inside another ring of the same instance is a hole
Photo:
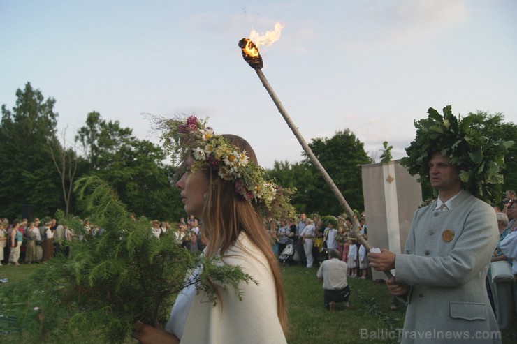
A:
{"label": "large green oak-leaf wreath on the torch-holding man's head", "polygon": [[415,121],[416,138],[406,148],[407,157],[400,163],[409,174],[419,174],[418,181],[428,186],[429,160],[438,151],[458,166],[465,189],[494,203],[500,198],[501,170],[506,167],[504,155],[514,142],[483,136],[472,128],[472,120],[471,116],[456,118],[450,105],[444,107],[443,116],[430,107],[427,119]]}

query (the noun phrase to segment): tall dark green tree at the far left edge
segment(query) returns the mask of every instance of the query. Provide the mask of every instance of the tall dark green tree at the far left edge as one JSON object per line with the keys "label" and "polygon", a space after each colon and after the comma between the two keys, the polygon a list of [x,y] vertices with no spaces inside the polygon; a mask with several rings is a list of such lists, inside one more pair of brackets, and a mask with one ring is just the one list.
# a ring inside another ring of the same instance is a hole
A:
{"label": "tall dark green tree at the far left edge", "polygon": [[53,214],[61,204],[59,178],[45,142],[56,134],[55,100],[29,82],[16,96],[13,110],[1,109],[0,209],[9,218],[20,217],[24,205],[34,206],[34,216]]}

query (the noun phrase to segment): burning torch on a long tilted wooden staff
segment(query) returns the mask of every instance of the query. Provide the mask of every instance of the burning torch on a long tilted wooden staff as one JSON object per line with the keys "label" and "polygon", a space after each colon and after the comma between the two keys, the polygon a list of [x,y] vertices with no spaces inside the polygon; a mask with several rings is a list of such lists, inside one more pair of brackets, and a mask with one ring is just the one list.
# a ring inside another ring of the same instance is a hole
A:
{"label": "burning torch on a long tilted wooden staff", "polygon": [[[264,45],[270,45],[277,41],[280,38],[281,29],[282,25],[277,23],[275,24],[275,31],[268,31],[265,33],[264,36],[257,36],[256,32],[253,30],[250,34],[250,38],[242,38],[242,40],[239,41],[239,47],[242,50],[242,57],[249,64],[249,66],[255,70],[256,75],[258,75],[258,78],[261,80],[263,86],[268,91],[268,94],[273,100],[273,103],[277,105],[278,111],[280,112],[280,114],[282,114],[282,117],[284,117],[284,120],[286,121],[287,125],[289,126],[289,128],[291,128],[291,131],[298,139],[298,142],[300,142],[300,144],[302,145],[303,150],[310,158],[314,166],[316,166],[316,169],[319,171],[319,173],[323,176],[323,179],[325,179],[328,186],[330,186],[330,190],[332,190],[335,197],[340,202],[341,206],[344,209],[344,212],[349,216],[349,218],[352,219],[352,235],[354,235],[357,241],[363,246],[365,246],[368,252],[370,252],[372,246],[368,244],[368,242],[363,237],[361,237],[361,232],[359,231],[359,228],[361,228],[361,224],[359,223],[358,219],[354,216],[354,211],[352,211],[351,207],[344,199],[342,193],[337,188],[332,178],[330,178],[325,168],[321,165],[318,158],[316,158],[314,153],[312,153],[312,149],[310,149],[307,142],[305,142],[305,139],[303,138],[302,134],[300,134],[300,131],[291,120],[291,117],[289,117],[289,114],[284,109],[284,105],[282,105],[279,98],[277,97],[277,94],[275,94],[275,91],[273,91],[271,85],[269,84],[268,80],[265,78],[264,73],[262,72],[263,61],[261,54],[258,52],[258,46],[261,45],[262,42],[265,43]],[[253,40],[256,43],[254,43]],[[386,274],[388,278],[393,276],[390,271],[384,271],[384,274]]]}

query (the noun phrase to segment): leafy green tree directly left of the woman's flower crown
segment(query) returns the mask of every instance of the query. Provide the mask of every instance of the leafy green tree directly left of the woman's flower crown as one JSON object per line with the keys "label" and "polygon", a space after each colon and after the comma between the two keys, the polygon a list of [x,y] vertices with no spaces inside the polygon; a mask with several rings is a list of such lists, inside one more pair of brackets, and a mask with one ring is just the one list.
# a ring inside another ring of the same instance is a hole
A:
{"label": "leafy green tree directly left of the woman's flower crown", "polygon": [[180,193],[172,186],[172,167],[161,147],[138,140],[119,121],[105,121],[99,112],[87,115],[75,139],[82,144],[89,172],[108,181],[120,200],[138,215],[172,219],[184,215]]}

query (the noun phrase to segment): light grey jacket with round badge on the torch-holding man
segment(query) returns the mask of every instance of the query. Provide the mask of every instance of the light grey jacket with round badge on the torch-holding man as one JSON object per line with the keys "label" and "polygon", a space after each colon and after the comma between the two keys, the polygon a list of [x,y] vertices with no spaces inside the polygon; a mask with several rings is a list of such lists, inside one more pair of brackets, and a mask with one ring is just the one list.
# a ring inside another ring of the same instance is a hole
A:
{"label": "light grey jacket with round badge on the torch-holding man", "polygon": [[418,209],[395,257],[396,281],[411,286],[402,343],[501,343],[485,285],[495,211],[466,190],[452,204]]}

